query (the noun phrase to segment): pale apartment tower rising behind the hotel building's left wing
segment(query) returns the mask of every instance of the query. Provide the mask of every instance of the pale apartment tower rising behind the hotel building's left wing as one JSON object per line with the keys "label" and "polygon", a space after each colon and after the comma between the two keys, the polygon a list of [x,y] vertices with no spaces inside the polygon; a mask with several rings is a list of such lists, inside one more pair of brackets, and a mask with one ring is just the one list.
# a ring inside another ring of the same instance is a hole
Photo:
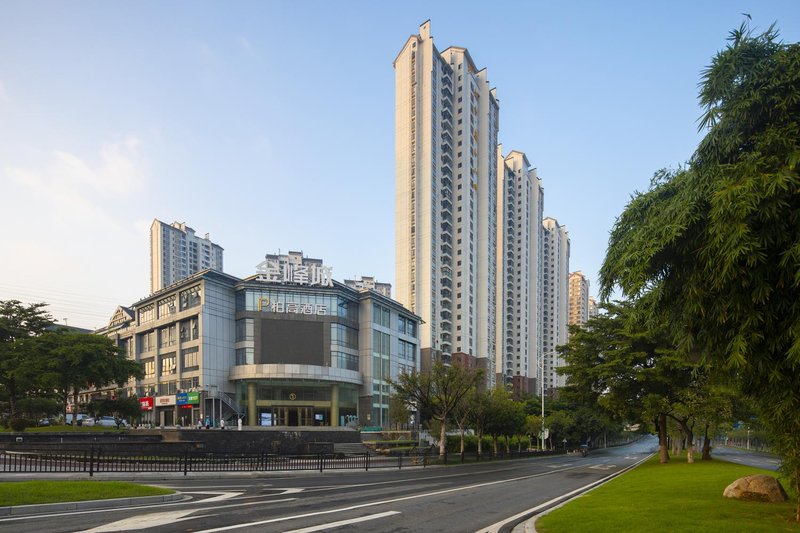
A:
{"label": "pale apartment tower rising behind the hotel building's left wing", "polygon": [[150,292],[154,293],[195,272],[212,268],[222,272],[222,247],[197,237],[185,222],[150,225]]}

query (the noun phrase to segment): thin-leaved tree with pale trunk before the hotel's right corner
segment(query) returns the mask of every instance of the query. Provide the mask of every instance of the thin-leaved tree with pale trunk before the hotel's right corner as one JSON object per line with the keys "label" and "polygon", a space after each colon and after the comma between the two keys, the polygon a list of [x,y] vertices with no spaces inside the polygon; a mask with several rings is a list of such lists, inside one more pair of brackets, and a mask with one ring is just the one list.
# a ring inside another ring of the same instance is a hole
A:
{"label": "thin-leaved tree with pale trunk before the hotel's right corner", "polygon": [[430,413],[441,424],[439,455],[444,456],[448,419],[456,406],[478,385],[481,377],[480,370],[437,362],[428,372],[404,372],[391,384],[395,395],[403,402],[416,406],[418,412]]}

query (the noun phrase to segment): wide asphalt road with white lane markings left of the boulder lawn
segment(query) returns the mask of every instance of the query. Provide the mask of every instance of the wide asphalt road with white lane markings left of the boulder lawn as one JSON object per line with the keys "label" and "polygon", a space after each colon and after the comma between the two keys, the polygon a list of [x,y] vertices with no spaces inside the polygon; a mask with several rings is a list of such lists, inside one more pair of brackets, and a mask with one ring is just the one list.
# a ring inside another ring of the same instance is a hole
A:
{"label": "wide asphalt road with white lane markings left of the boulder lawn", "polygon": [[511,531],[646,458],[654,437],[580,455],[463,466],[160,481],[182,502],[0,519],[3,532]]}

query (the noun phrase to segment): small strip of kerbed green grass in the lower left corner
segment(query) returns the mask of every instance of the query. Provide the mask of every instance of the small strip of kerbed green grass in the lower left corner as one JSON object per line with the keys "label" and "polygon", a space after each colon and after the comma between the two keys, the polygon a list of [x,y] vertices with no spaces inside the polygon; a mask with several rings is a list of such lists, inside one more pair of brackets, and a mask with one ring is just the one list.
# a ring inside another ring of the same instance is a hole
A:
{"label": "small strip of kerbed green grass in the lower left corner", "polygon": [[0,507],[161,496],[173,492],[124,481],[9,481],[0,483]]}

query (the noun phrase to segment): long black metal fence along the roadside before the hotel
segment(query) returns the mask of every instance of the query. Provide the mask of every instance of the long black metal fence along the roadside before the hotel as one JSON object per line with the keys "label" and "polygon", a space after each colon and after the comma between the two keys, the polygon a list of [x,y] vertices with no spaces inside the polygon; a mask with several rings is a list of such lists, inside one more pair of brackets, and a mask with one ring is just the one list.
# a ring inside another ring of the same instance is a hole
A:
{"label": "long black metal fence along the roadside before the hotel", "polygon": [[0,472],[5,473],[87,473],[103,472],[275,472],[293,470],[369,470],[404,468],[428,464],[426,455],[381,457],[369,454],[316,454],[284,456],[267,453],[219,454],[185,452],[182,455],[112,455],[102,448],[87,452],[4,452]]}

